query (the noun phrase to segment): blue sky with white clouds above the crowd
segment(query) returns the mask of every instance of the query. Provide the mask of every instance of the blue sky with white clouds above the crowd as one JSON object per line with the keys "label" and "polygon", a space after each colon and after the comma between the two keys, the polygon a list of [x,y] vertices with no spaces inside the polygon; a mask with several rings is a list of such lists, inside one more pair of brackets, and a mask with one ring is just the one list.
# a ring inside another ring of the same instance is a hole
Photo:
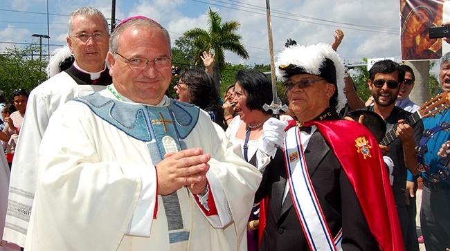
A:
{"label": "blue sky with white clouds above the crowd", "polygon": [[[222,20],[240,22],[242,43],[250,58],[226,53],[232,64],[269,64],[264,0],[116,0],[116,19],[145,15],[159,21],[172,41],[190,28],[206,29],[208,8]],[[271,0],[273,45],[280,52],[288,38],[298,44],[331,43],[336,28],[345,37],[338,53],[345,63],[363,57],[400,57],[399,1],[397,0]],[[111,0],[48,0],[51,50],[65,44],[69,14],[81,6],[93,6],[111,17]],[[32,34],[47,34],[47,0],[0,1],[0,53],[5,47],[39,44]],[[42,40],[43,50],[46,39]]]}

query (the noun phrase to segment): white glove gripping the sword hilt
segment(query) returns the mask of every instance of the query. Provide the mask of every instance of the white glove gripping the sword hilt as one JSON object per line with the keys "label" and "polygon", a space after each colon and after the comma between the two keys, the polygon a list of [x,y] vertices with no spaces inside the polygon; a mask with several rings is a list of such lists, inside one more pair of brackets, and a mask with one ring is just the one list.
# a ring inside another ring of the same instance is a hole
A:
{"label": "white glove gripping the sword hilt", "polygon": [[277,120],[276,118],[269,118],[269,120],[264,122],[260,142],[260,150],[264,154],[273,158],[277,147],[284,147],[287,124],[286,121]]}

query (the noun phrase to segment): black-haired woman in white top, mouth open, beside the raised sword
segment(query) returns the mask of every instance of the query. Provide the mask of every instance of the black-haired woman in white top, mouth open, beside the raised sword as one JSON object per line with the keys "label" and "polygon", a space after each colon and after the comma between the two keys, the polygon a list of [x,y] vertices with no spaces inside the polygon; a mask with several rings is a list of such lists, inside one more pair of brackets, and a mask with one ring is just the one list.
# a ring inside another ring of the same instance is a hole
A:
{"label": "black-haired woman in white top, mouth open, beside the raised sword", "polygon": [[[233,92],[233,104],[235,104],[237,115],[228,125],[226,136],[233,145],[240,145],[245,160],[260,170],[270,162],[271,158],[271,155],[263,150],[262,132],[273,131],[273,128],[284,129],[287,126],[287,122],[273,118],[272,111],[265,111],[262,108],[264,104],[271,104],[272,98],[272,84],[264,73],[253,70],[237,72]],[[277,125],[273,127],[274,124]],[[267,134],[276,136],[282,133],[284,130]],[[253,212],[256,212],[258,208],[253,208]],[[258,250],[258,230],[255,230],[258,228],[258,222],[258,216],[252,213],[247,227],[249,230],[248,250]]]}

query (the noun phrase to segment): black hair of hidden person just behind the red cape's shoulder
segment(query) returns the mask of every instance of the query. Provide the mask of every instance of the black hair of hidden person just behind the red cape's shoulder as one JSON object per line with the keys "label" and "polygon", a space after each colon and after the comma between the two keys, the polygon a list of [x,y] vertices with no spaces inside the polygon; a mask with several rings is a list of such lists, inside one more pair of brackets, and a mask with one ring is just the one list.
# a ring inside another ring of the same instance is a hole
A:
{"label": "black hair of hidden person just behind the red cape's shoulder", "polygon": [[358,122],[361,115],[364,115],[363,126],[369,129],[378,142],[381,142],[386,134],[386,124],[383,118],[374,111],[367,110],[355,110],[347,113],[347,116],[356,122]]}

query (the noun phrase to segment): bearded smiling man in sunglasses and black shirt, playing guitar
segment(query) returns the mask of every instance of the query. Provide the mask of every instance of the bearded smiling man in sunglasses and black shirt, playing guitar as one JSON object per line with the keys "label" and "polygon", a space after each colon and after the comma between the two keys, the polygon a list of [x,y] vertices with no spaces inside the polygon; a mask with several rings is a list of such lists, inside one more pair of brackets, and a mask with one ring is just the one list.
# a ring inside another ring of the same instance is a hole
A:
{"label": "bearded smiling man in sunglasses and black shirt, playing guitar", "polygon": [[[399,215],[400,227],[402,228],[403,239],[406,239],[406,229],[408,227],[408,214],[406,211],[406,176],[407,169],[413,175],[418,174],[417,156],[415,146],[422,138],[423,124],[417,122],[411,127],[409,124],[402,124],[411,113],[398,106],[397,96],[404,82],[404,69],[392,60],[386,59],[376,62],[369,70],[368,86],[374,99],[373,106],[366,106],[364,109],[375,111],[386,122],[389,132],[396,128],[397,138],[390,142],[387,156],[394,162],[393,170],[393,192],[397,213]],[[388,134],[388,133],[386,133]]]}

